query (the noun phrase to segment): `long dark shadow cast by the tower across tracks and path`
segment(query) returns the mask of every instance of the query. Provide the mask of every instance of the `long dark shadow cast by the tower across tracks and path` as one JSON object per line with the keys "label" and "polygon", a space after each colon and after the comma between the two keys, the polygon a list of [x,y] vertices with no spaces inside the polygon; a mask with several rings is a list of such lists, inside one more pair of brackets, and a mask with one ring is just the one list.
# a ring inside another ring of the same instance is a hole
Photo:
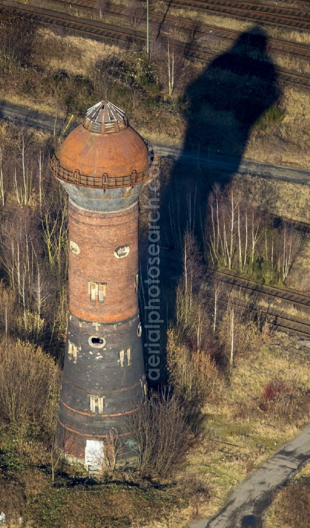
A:
{"label": "long dark shadow cast by the tower across tracks and path", "polygon": [[[259,27],[242,33],[187,87],[182,154],[174,163],[168,182],[161,181],[161,247],[170,249],[161,251],[161,312],[165,324],[174,314],[185,231],[194,232],[202,244],[208,194],[213,184],[224,185],[232,174],[238,173],[253,125],[275,105],[279,95],[267,36]],[[197,154],[201,159],[189,158]],[[233,157],[229,173],[208,167],[212,154]],[[170,260],[172,256],[175,263]]]}

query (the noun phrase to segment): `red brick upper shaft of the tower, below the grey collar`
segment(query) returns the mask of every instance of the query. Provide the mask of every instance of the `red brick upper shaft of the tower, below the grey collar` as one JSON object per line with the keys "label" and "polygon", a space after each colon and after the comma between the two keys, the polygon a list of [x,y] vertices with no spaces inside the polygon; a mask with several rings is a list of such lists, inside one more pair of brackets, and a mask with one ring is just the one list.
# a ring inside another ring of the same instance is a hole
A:
{"label": "red brick upper shaft of the tower, below the grey collar", "polygon": [[[69,202],[69,309],[77,317],[114,323],[138,310],[135,274],[138,271],[138,203],[115,213],[84,211]],[[70,240],[80,253],[70,250]],[[116,258],[119,246],[129,246],[127,257]],[[88,281],[106,282],[103,303],[90,300]]]}

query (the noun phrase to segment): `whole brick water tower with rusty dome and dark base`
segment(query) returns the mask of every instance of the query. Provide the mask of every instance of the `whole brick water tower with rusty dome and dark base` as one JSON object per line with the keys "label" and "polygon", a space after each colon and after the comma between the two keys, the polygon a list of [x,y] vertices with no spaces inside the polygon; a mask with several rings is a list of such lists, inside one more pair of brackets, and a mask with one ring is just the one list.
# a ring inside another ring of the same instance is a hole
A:
{"label": "whole brick water tower with rusty dome and dark base", "polygon": [[101,101],[50,159],[69,194],[69,319],[58,432],[67,455],[86,463],[86,449],[104,444],[111,428],[125,444],[124,417],[146,395],[138,215],[152,156],[124,112]]}

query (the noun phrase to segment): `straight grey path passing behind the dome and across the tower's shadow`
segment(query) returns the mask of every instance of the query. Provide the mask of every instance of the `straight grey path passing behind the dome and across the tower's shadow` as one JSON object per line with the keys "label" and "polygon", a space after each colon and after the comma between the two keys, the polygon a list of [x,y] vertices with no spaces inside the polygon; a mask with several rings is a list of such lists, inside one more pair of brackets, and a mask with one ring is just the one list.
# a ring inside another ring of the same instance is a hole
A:
{"label": "straight grey path passing behind the dome and across the tower's shadow", "polygon": [[[29,126],[43,128],[51,133],[53,133],[55,126],[54,116],[41,114],[39,111],[31,110],[24,106],[12,105],[3,100],[0,101],[0,118],[21,121]],[[57,119],[55,127],[56,133],[60,133],[64,121],[64,119]],[[76,124],[74,125],[72,122],[70,130],[73,126],[76,126]],[[310,171],[307,170],[294,167],[268,165],[266,163],[250,161],[249,159],[242,159],[240,162],[239,159],[230,156],[184,151],[180,147],[166,145],[158,145],[158,147],[161,150],[162,156],[172,156],[176,159],[182,157],[182,161],[188,162],[199,159],[199,163],[210,169],[216,169],[228,173],[238,172],[239,174],[258,174],[269,180],[283,180],[292,183],[310,185]]]}

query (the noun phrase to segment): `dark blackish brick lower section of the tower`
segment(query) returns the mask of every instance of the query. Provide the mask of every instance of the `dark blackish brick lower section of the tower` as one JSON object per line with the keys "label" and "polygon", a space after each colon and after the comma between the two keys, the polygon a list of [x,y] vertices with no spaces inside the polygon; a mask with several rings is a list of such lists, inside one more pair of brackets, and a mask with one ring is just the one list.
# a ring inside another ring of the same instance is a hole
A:
{"label": "dark blackish brick lower section of the tower", "polygon": [[[142,338],[137,335],[139,317],[117,325],[89,323],[70,315],[59,411],[59,441],[64,450],[84,458],[87,439],[105,440],[114,427],[127,438],[124,416],[142,403],[145,375]],[[105,340],[92,347],[89,337]],[[69,342],[77,347],[76,359]],[[118,352],[130,347],[131,364],[118,362]],[[90,411],[90,396],[104,398],[104,409]],[[132,453],[131,453],[132,455]]]}

